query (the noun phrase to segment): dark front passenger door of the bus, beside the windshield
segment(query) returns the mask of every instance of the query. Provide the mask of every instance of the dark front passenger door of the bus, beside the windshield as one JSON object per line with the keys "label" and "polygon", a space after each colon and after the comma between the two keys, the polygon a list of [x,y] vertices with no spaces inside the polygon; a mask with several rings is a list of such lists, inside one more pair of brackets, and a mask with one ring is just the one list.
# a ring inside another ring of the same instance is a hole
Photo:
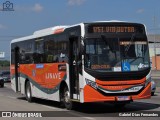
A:
{"label": "dark front passenger door of the bus, beside the windshield", "polygon": [[69,39],[69,76],[71,99],[79,99],[79,46],[78,37]]}

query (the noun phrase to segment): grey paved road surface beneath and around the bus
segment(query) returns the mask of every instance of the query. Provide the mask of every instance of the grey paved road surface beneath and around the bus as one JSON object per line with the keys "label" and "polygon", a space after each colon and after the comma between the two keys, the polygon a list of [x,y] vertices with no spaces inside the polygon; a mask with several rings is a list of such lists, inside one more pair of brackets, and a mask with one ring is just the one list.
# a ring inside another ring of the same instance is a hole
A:
{"label": "grey paved road surface beneath and around the bus", "polygon": [[[35,99],[33,103],[28,103],[24,96],[14,93],[10,84],[5,84],[4,88],[0,88],[0,111],[18,111],[18,112],[40,112],[43,115],[48,115],[52,117],[47,117],[50,119],[89,119],[89,120],[128,120],[128,119],[152,119],[158,120],[158,117],[118,117],[128,114],[141,114],[147,111],[147,113],[156,113],[155,111],[160,111],[160,93],[156,92],[155,96],[151,99],[138,100],[131,104],[128,104],[123,109],[118,109],[108,103],[90,103],[90,104],[79,104],[77,108],[72,111],[60,108],[58,102]],[[45,111],[45,112],[44,112]],[[47,112],[46,112],[47,111]],[[160,115],[160,113],[158,113]],[[53,117],[54,116],[54,117]],[[117,116],[117,117],[115,117]],[[4,118],[7,119],[8,118]],[[20,119],[20,118],[10,118],[10,119]],[[22,118],[21,118],[22,119]],[[25,119],[25,118],[23,118]],[[44,118],[29,118],[33,120],[43,120]]]}

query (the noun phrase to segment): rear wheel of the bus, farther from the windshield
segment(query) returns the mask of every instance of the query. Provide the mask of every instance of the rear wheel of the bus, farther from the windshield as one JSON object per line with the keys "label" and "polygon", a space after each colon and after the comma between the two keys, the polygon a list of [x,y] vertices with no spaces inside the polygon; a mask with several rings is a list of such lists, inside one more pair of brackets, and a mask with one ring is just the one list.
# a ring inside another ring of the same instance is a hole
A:
{"label": "rear wheel of the bus, farther from the windshield", "polygon": [[26,99],[28,102],[32,102],[32,93],[31,93],[31,85],[30,82],[27,81],[26,83],[26,88],[25,88],[25,93],[26,93]]}

